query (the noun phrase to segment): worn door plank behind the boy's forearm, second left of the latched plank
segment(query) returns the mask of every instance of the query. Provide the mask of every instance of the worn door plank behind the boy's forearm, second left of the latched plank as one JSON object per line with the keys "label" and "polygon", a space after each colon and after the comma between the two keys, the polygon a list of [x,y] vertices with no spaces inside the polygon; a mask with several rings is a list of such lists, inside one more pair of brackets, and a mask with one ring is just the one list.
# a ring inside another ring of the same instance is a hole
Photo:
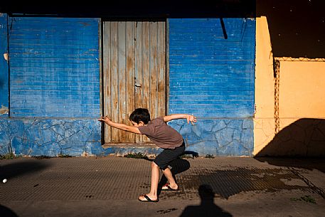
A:
{"label": "worn door plank behind the boy's forearm, second left of the latched plank", "polygon": [[[125,61],[125,45],[126,45],[126,23],[119,22],[118,24],[118,77],[119,77],[119,123],[127,125],[127,86],[126,86],[126,61]],[[119,141],[125,142],[127,132],[119,131]]]}

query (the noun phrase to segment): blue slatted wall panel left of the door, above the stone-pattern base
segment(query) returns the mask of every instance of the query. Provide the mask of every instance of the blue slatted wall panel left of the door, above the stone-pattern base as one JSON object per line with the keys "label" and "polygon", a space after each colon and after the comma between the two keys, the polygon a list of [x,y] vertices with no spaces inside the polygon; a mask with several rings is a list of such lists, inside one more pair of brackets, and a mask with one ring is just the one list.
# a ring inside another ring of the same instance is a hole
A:
{"label": "blue slatted wall panel left of the door, above the stone-pattern base", "polygon": [[98,117],[98,18],[10,18],[12,117]]}

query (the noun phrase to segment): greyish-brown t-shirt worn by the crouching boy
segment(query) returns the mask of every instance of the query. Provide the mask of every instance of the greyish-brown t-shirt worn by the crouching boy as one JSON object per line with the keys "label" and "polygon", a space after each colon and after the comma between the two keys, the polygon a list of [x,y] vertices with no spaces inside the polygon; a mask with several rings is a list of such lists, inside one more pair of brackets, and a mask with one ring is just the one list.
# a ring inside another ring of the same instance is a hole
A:
{"label": "greyish-brown t-shirt worn by the crouching boy", "polygon": [[162,149],[175,149],[183,144],[181,134],[167,125],[164,117],[157,117],[147,125],[140,126],[139,131]]}

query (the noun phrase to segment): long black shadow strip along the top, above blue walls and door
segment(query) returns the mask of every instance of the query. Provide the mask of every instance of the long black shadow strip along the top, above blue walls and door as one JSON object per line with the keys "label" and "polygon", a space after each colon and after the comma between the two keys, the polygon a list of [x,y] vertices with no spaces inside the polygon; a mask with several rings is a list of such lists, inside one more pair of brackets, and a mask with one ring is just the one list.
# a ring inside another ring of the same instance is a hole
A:
{"label": "long black shadow strip along the top, above blue walls and door", "polygon": [[46,4],[14,4],[13,1],[0,3],[0,11],[7,14],[58,14],[77,17],[255,17],[255,0],[217,1],[109,1],[101,4],[67,5],[54,2]]}

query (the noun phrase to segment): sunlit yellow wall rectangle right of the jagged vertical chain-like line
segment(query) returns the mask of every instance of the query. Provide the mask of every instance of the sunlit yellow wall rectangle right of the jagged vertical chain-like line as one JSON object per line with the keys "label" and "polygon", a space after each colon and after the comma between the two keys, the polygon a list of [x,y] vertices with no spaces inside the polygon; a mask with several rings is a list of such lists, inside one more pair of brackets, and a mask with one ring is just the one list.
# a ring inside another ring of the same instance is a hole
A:
{"label": "sunlit yellow wall rectangle right of the jagged vertical chain-like line", "polygon": [[325,62],[280,61],[279,117],[325,118]]}

